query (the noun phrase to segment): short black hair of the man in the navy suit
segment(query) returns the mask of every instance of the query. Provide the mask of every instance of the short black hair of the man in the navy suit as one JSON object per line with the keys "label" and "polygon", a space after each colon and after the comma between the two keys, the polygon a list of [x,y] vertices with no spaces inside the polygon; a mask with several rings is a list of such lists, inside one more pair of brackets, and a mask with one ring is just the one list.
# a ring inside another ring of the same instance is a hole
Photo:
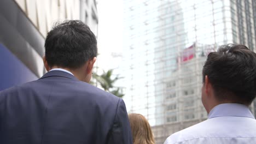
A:
{"label": "short black hair of the man in the navy suit", "polygon": [[97,40],[90,28],[79,20],[56,23],[45,40],[45,59],[54,65],[76,69],[97,56]]}

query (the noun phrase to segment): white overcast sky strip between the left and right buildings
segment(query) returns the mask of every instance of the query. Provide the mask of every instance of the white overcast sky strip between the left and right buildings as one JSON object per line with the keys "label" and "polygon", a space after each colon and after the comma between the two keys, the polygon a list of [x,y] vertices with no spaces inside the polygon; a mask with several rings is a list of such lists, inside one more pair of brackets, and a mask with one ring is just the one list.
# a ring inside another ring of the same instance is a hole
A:
{"label": "white overcast sky strip between the left and right buildings", "polygon": [[112,69],[111,53],[122,52],[123,1],[98,0],[98,67]]}

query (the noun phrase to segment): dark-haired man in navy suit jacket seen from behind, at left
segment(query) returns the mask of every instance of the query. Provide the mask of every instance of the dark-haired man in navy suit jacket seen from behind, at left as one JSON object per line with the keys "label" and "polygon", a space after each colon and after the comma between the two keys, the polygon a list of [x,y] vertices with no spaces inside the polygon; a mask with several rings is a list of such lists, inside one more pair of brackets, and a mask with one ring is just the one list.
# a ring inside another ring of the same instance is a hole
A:
{"label": "dark-haired man in navy suit jacket seen from behind, at left", "polygon": [[0,143],[132,143],[124,101],[88,84],[97,40],[81,21],[46,37],[46,73],[0,92]]}

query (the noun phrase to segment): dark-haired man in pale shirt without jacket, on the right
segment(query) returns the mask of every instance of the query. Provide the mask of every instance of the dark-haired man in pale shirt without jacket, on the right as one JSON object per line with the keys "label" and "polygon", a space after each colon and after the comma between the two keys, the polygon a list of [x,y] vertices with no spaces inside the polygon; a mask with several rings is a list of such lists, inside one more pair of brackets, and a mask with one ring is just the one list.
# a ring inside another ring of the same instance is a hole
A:
{"label": "dark-haired man in pale shirt without jacket, on the right", "polygon": [[208,119],[172,134],[165,144],[256,143],[248,108],[256,94],[256,53],[244,45],[221,46],[208,55],[202,75]]}

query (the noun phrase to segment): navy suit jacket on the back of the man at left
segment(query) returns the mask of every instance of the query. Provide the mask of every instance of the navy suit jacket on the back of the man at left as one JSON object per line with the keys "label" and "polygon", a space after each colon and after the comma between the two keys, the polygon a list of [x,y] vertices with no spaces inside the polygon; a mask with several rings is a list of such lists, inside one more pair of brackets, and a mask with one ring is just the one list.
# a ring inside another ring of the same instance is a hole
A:
{"label": "navy suit jacket on the back of the man at left", "polygon": [[0,143],[132,143],[124,101],[63,71],[0,92],[0,124]]}

